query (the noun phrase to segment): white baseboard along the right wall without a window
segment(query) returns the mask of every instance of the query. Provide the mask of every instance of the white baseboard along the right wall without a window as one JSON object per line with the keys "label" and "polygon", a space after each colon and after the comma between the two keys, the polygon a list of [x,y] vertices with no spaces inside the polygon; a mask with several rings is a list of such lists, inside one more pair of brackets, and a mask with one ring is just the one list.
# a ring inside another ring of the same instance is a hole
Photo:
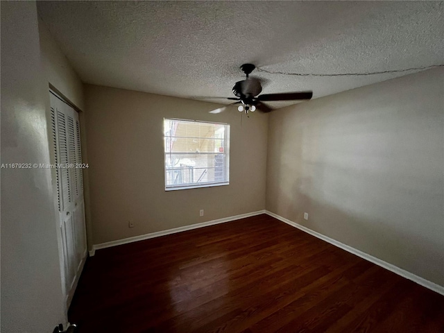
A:
{"label": "white baseboard along the right wall without a window", "polygon": [[282,217],[278,214],[275,214],[273,212],[269,212],[268,210],[266,210],[265,213],[270,216],[273,216],[275,219],[278,219],[279,221],[282,221],[284,223],[287,223],[288,225],[291,225],[294,228],[298,228],[299,230],[307,232],[307,234],[311,234],[311,236],[314,236],[318,239],[322,239],[323,241],[326,241],[327,243],[330,243],[338,248],[341,248],[347,252],[350,252],[353,255],[357,255],[358,257],[361,257],[362,259],[366,259],[368,262],[372,262],[373,264],[375,264],[377,266],[381,266],[382,268],[386,268],[388,271],[391,271],[395,274],[402,276],[402,278],[406,278],[408,280],[416,282],[417,284],[420,284],[422,287],[436,291],[436,293],[441,293],[441,295],[444,296],[444,287],[440,286],[439,284],[436,284],[436,283],[431,282],[429,280],[425,280],[424,278],[421,278],[420,276],[410,273],[408,271],[404,271],[404,269],[399,268],[398,266],[395,266],[393,264],[389,264],[388,262],[384,262],[384,260],[378,259],[377,257],[373,257],[373,255],[368,255],[367,253],[357,250],[356,248],[352,248],[351,246],[345,245],[345,244],[341,243],[340,241],[336,241],[330,237],[320,234],[319,232],[313,231],[303,225],[300,225],[296,222],[290,221],[289,219],[285,219],[284,217]]}

